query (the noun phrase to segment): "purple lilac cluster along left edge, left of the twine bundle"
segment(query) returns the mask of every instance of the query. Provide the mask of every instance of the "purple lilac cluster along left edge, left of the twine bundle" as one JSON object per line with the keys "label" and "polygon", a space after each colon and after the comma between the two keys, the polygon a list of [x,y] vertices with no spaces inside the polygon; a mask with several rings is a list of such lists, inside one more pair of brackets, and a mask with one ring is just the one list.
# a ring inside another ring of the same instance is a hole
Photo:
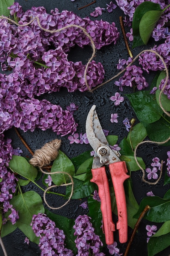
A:
{"label": "purple lilac cluster along left edge, left of the twine bundle", "polygon": [[[4,139],[4,135],[0,135],[0,208],[2,208],[2,221],[5,224],[8,220],[12,224],[18,220],[18,211],[16,211],[10,200],[12,198],[12,193],[16,190],[16,180],[14,173],[11,173],[7,167],[9,166],[9,161],[12,155],[17,154],[17,150],[13,150],[11,146],[11,139]],[[12,192],[12,193],[11,193]],[[10,212],[7,218],[4,218],[4,213]]]}

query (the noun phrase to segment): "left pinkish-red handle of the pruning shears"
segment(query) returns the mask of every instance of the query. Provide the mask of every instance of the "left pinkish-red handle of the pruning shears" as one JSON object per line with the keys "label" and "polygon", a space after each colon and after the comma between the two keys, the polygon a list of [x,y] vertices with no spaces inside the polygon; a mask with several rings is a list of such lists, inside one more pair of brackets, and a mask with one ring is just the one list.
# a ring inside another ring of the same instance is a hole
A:
{"label": "left pinkish-red handle of the pruning shears", "polygon": [[106,244],[112,245],[114,242],[113,231],[115,231],[115,224],[112,220],[110,191],[105,167],[102,166],[100,168],[92,169],[91,171],[93,175],[91,182],[96,183],[99,188]]}

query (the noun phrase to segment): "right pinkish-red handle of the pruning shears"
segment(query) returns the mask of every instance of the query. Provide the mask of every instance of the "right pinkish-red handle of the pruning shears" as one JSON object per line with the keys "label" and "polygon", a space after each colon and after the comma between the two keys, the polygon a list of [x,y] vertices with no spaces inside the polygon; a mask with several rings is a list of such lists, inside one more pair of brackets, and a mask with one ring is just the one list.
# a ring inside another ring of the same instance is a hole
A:
{"label": "right pinkish-red handle of the pruning shears", "polygon": [[128,240],[128,218],[126,209],[126,197],[124,191],[124,181],[130,176],[125,162],[115,162],[109,164],[110,175],[112,177],[113,187],[115,190],[118,222],[117,229],[119,229],[120,243],[126,243]]}

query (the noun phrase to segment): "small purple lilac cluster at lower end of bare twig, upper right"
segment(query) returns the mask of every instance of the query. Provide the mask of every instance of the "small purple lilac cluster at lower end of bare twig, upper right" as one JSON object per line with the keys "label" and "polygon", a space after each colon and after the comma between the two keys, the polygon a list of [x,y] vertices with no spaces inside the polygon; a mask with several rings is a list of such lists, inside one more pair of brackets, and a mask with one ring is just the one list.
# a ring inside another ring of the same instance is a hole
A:
{"label": "small purple lilac cluster at lower end of bare twig, upper right", "polygon": [[[119,59],[119,63],[117,64],[118,70],[123,70],[124,65],[128,65],[132,61],[131,58]],[[115,85],[119,86],[119,90],[122,92],[124,86],[129,87],[137,87],[138,90],[143,90],[148,87],[148,83],[146,82],[145,77],[142,75],[143,70],[141,67],[137,67],[136,65],[131,65],[126,67],[126,71],[124,75],[119,78],[119,81],[115,81]]]}

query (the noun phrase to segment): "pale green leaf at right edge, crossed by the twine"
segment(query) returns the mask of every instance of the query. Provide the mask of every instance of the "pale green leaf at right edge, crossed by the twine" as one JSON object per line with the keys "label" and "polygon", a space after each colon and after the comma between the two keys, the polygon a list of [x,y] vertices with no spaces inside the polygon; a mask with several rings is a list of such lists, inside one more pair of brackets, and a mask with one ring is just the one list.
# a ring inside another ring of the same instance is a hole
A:
{"label": "pale green leaf at right edge, crossed by the twine", "polygon": [[[160,106],[160,103],[159,103],[159,94],[161,92],[161,90],[159,90],[159,85],[161,84],[161,81],[162,79],[166,78],[166,72],[165,71],[162,71],[157,79],[157,88],[158,90],[156,90],[156,100],[157,100],[157,104]],[[165,94],[161,94],[161,104],[163,106],[163,108],[166,110],[166,111],[170,111],[170,100],[167,98],[167,95]]]}

